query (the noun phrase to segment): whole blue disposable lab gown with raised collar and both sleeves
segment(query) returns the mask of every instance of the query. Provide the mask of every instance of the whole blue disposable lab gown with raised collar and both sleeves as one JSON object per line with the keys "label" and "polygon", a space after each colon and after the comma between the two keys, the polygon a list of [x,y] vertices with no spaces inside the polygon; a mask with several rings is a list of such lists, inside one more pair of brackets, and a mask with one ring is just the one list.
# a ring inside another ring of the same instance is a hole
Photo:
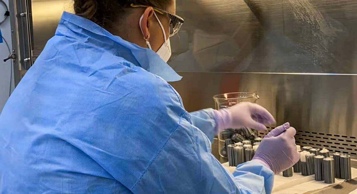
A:
{"label": "whole blue disposable lab gown with raised collar and both sleeves", "polygon": [[270,169],[213,157],[213,110],[186,112],[180,78],[64,13],[1,113],[0,193],[270,193]]}

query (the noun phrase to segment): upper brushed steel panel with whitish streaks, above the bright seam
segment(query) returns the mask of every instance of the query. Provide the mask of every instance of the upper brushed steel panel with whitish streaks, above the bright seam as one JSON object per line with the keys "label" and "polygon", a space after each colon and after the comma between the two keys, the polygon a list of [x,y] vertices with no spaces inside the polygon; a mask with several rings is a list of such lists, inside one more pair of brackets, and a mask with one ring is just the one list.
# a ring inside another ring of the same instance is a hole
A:
{"label": "upper brushed steel panel with whitish streaks, above the bright seam", "polygon": [[178,0],[177,14],[177,71],[357,73],[354,0]]}

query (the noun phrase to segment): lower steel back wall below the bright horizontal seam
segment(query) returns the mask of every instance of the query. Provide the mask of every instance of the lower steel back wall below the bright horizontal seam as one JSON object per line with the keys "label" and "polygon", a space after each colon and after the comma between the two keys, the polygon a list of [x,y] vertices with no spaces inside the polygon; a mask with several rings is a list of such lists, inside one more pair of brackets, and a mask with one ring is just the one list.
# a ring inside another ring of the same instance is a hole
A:
{"label": "lower steel back wall below the bright horizontal seam", "polygon": [[180,75],[182,81],[171,85],[180,93],[188,111],[214,108],[211,96],[218,93],[255,92],[261,98],[257,103],[276,117],[278,125],[290,122],[296,128],[297,144],[357,156],[354,147],[357,98],[353,96],[357,88],[352,87],[357,75],[209,72]]}

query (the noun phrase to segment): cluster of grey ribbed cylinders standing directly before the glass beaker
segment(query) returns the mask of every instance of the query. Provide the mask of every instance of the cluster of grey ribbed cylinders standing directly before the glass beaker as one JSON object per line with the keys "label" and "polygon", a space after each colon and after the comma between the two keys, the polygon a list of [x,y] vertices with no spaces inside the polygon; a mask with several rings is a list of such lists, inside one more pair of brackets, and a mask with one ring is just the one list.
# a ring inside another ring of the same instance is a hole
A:
{"label": "cluster of grey ribbed cylinders standing directly before the glass beaker", "polygon": [[238,142],[227,146],[228,163],[233,167],[252,160],[254,153],[255,151],[250,141],[249,143]]}

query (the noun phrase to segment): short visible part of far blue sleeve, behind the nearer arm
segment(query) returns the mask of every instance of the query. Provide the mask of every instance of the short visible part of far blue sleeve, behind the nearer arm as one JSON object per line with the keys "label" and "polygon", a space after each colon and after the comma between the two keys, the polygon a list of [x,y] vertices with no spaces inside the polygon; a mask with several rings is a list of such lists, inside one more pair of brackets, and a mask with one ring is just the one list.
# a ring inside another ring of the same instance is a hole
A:
{"label": "short visible part of far blue sleeve, behind the nearer arm", "polygon": [[202,109],[200,111],[191,112],[192,124],[206,134],[211,143],[215,136],[215,113],[212,108]]}

